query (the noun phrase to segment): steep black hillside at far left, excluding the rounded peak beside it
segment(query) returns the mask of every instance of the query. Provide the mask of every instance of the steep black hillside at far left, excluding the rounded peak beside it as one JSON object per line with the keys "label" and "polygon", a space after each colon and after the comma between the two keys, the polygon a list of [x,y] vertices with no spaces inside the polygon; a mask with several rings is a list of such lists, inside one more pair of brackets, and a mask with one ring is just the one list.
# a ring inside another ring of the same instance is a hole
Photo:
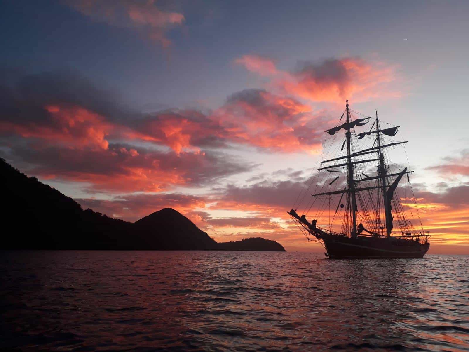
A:
{"label": "steep black hillside at far left, excluding the rounded peak beside it", "polygon": [[133,224],[82,207],[0,160],[3,248],[124,249]]}

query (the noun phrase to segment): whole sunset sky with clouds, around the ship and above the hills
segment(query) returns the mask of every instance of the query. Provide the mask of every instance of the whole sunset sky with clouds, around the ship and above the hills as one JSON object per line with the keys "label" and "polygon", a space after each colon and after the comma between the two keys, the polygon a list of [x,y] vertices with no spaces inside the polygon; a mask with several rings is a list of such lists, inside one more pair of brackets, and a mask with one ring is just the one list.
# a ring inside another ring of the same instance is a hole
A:
{"label": "whole sunset sky with clouds, around the ship and above the hills", "polygon": [[393,161],[415,171],[430,253],[469,254],[468,13],[468,1],[2,1],[0,156],[109,216],[173,207],[217,241],[320,251],[286,212],[348,99],[409,141]]}

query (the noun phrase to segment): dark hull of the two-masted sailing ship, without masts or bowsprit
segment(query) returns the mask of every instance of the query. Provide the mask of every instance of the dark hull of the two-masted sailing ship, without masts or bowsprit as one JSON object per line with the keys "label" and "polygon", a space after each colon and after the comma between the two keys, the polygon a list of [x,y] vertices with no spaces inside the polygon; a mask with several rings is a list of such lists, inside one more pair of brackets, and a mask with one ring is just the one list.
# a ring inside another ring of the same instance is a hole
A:
{"label": "dark hull of the two-masted sailing ship, without masts or bowsprit", "polygon": [[422,258],[430,243],[403,239],[321,236],[330,259]]}

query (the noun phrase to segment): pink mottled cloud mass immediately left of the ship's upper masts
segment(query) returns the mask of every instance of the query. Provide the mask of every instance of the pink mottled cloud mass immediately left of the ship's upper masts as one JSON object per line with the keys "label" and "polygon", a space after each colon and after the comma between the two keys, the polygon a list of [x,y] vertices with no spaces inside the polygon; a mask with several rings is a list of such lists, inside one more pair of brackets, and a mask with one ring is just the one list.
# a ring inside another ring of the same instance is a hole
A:
{"label": "pink mottled cloud mass immediately left of the ship's upper masts", "polygon": [[260,89],[232,94],[212,118],[232,142],[287,153],[318,151],[328,122],[324,112]]}

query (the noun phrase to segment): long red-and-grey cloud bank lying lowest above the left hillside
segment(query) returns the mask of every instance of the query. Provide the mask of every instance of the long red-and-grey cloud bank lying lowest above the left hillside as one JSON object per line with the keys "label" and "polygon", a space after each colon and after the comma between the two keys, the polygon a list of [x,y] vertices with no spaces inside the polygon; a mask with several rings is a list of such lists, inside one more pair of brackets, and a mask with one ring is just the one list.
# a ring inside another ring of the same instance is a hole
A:
{"label": "long red-and-grey cloud bank lying lowest above the left hillside", "polygon": [[159,192],[174,186],[216,184],[256,165],[219,152],[156,152],[131,145],[70,149],[47,144],[17,145],[11,157],[28,163],[38,177],[90,184],[88,191]]}

